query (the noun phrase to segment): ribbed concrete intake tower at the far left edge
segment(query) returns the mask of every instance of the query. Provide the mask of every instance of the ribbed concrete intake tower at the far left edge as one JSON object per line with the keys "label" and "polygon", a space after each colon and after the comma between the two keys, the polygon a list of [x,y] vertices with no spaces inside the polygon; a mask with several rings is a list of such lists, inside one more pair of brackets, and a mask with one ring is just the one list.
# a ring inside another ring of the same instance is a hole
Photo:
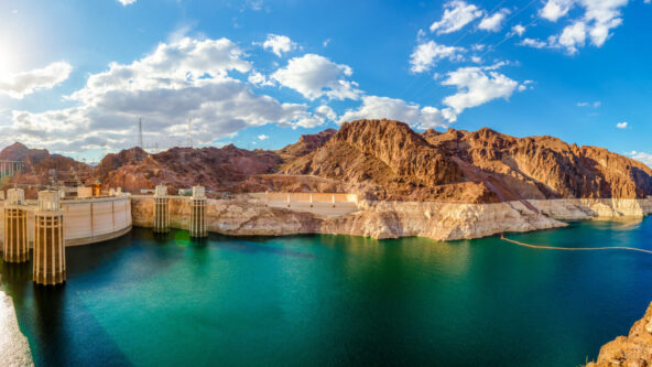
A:
{"label": "ribbed concrete intake tower at the far left edge", "polygon": [[[4,193],[2,193],[4,196]],[[4,236],[2,260],[4,262],[25,262],[30,260],[28,244],[28,207],[25,192],[10,188],[4,202]]]}

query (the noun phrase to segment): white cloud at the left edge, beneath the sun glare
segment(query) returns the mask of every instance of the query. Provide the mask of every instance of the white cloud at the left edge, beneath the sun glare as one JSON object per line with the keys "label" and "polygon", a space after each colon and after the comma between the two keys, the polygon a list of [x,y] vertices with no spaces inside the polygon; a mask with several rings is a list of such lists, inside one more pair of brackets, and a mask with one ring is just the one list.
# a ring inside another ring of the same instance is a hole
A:
{"label": "white cloud at the left edge, beneath the sun glare", "polygon": [[72,71],[70,64],[56,62],[43,68],[0,76],[0,94],[20,99],[39,89],[51,89],[65,82]]}

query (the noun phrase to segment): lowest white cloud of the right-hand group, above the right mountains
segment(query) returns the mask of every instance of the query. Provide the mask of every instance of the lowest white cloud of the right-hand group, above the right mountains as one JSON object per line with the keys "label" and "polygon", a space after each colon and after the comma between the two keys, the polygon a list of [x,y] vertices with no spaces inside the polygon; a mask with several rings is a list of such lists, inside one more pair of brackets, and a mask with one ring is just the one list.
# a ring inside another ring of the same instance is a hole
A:
{"label": "lowest white cloud of the right-hand group, above the right mountains", "polygon": [[485,67],[460,67],[447,74],[442,85],[455,86],[457,93],[444,98],[444,105],[461,114],[467,108],[483,105],[497,98],[509,98],[519,83],[495,69],[501,64]]}

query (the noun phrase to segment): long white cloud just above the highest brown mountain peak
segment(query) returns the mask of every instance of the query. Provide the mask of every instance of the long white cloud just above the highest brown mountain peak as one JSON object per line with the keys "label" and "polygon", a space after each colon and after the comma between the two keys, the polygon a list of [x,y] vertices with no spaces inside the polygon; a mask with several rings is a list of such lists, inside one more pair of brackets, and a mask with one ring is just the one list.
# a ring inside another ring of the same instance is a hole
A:
{"label": "long white cloud just above the highest brown mountain peak", "polygon": [[456,116],[450,109],[439,110],[434,107],[423,107],[409,104],[402,99],[379,96],[362,97],[362,105],[357,109],[347,110],[339,122],[360,119],[390,119],[406,122],[420,129],[447,127],[455,121]]}

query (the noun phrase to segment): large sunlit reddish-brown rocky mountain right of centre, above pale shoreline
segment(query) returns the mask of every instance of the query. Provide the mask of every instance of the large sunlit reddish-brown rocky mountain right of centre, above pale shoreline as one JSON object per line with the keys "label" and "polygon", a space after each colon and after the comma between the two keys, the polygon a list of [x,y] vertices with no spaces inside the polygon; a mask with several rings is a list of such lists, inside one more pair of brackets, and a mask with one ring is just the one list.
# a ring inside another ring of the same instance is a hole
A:
{"label": "large sunlit reddish-brown rocky mountain right of centre, above pale shoreline", "polygon": [[343,123],[323,147],[286,163],[289,174],[339,180],[370,198],[499,203],[546,198],[644,198],[652,170],[601,148],[552,137]]}

